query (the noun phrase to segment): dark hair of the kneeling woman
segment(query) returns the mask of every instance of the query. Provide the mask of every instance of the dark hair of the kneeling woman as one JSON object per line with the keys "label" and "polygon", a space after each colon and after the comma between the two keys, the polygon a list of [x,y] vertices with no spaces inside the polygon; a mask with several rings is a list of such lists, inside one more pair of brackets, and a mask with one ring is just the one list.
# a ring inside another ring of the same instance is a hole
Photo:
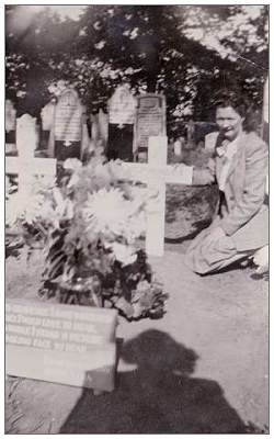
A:
{"label": "dark hair of the kneeling woman", "polygon": [[217,108],[231,106],[241,117],[244,117],[243,130],[247,132],[258,131],[260,124],[259,112],[254,110],[249,98],[240,91],[219,90],[214,99],[213,105]]}

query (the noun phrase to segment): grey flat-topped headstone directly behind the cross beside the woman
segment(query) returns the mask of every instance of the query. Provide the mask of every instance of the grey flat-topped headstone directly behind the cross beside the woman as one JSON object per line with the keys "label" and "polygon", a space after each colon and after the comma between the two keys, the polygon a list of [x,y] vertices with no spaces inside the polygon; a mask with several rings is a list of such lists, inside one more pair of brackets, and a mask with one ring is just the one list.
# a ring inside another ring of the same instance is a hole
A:
{"label": "grey flat-topped headstone directly behind the cross beside the woman", "polygon": [[148,159],[148,139],[151,136],[165,136],[165,98],[148,93],[137,97],[137,120],[135,127],[135,150],[138,161]]}

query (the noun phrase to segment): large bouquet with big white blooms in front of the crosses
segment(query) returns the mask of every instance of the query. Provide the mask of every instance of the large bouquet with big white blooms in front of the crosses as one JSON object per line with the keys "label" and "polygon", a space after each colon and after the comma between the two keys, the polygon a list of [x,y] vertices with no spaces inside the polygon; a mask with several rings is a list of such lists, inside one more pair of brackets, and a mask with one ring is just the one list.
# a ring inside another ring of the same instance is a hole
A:
{"label": "large bouquet with big white blooms in front of the crosses", "polygon": [[160,317],[167,295],[137,244],[148,194],[121,172],[103,157],[67,159],[56,181],[36,179],[27,199],[8,190],[8,226],[20,228],[30,251],[44,248],[39,294],[116,307],[128,319]]}

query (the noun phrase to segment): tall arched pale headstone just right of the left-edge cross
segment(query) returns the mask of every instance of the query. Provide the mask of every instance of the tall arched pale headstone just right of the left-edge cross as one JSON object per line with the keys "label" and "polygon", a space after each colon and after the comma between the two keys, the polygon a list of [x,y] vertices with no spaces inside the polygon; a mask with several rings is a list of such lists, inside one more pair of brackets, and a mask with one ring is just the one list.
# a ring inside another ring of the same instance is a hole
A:
{"label": "tall arched pale headstone just right of the left-edge cross", "polygon": [[81,157],[83,108],[76,90],[60,94],[55,111],[55,157],[57,160]]}

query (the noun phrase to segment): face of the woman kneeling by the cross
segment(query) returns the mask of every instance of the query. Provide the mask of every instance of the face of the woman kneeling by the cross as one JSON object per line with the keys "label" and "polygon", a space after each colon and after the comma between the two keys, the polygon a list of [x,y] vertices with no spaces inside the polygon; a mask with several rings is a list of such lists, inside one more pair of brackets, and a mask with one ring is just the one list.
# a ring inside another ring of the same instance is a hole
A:
{"label": "face of the woman kneeling by the cross", "polygon": [[216,123],[228,140],[233,140],[242,132],[243,117],[232,106],[218,106],[216,111]]}

